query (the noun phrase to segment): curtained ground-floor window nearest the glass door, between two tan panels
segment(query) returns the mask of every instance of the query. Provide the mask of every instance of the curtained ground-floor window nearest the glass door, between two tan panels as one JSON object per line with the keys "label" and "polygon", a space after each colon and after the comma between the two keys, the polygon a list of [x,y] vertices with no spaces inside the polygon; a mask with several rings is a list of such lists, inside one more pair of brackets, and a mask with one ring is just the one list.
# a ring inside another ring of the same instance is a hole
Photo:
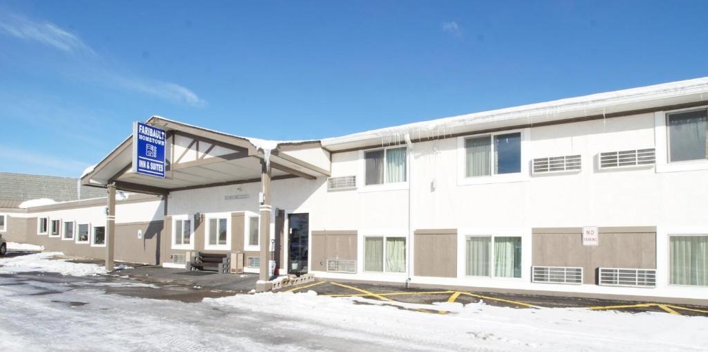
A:
{"label": "curtained ground-floor window nearest the glass door, between two tan panels", "polygon": [[405,237],[365,237],[364,271],[406,272]]}

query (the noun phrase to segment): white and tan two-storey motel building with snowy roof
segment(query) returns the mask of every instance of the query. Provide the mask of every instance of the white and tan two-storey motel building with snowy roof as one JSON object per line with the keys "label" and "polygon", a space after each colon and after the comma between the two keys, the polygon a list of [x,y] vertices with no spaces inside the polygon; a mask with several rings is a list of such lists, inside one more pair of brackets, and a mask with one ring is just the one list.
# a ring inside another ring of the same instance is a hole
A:
{"label": "white and tan two-storey motel building with snowy roof", "polygon": [[706,304],[707,116],[708,77],[312,141],[153,116],[164,177],[126,136],[80,180],[107,197],[0,208],[0,233],[108,268]]}

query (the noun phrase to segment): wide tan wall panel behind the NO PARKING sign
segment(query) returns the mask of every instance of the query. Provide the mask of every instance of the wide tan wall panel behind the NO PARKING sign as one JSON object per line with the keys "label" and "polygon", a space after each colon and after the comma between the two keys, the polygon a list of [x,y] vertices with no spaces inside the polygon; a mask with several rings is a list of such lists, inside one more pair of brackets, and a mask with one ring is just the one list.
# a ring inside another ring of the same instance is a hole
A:
{"label": "wide tan wall panel behind the NO PARKING sign", "polygon": [[532,235],[533,266],[581,266],[583,283],[597,283],[597,268],[656,268],[656,233],[600,233],[598,246],[583,246],[581,232]]}

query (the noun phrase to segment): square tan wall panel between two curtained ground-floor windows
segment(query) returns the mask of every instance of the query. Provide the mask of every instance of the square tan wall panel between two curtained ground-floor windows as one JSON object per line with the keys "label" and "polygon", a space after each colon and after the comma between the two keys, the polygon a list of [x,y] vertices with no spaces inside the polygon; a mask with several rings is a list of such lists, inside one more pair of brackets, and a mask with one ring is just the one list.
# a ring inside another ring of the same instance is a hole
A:
{"label": "square tan wall panel between two curtained ground-floor windows", "polygon": [[429,231],[416,230],[415,276],[433,276],[438,278],[457,277],[457,233],[432,234]]}

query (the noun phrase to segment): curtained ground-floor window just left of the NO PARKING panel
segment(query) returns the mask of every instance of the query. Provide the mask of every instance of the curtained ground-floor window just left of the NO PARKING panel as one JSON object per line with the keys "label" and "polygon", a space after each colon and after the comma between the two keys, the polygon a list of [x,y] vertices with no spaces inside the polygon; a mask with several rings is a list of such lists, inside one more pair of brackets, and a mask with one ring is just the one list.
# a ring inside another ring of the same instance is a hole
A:
{"label": "curtained ground-floor window just left of the NO PARKING panel", "polygon": [[521,277],[521,237],[467,237],[467,276]]}

